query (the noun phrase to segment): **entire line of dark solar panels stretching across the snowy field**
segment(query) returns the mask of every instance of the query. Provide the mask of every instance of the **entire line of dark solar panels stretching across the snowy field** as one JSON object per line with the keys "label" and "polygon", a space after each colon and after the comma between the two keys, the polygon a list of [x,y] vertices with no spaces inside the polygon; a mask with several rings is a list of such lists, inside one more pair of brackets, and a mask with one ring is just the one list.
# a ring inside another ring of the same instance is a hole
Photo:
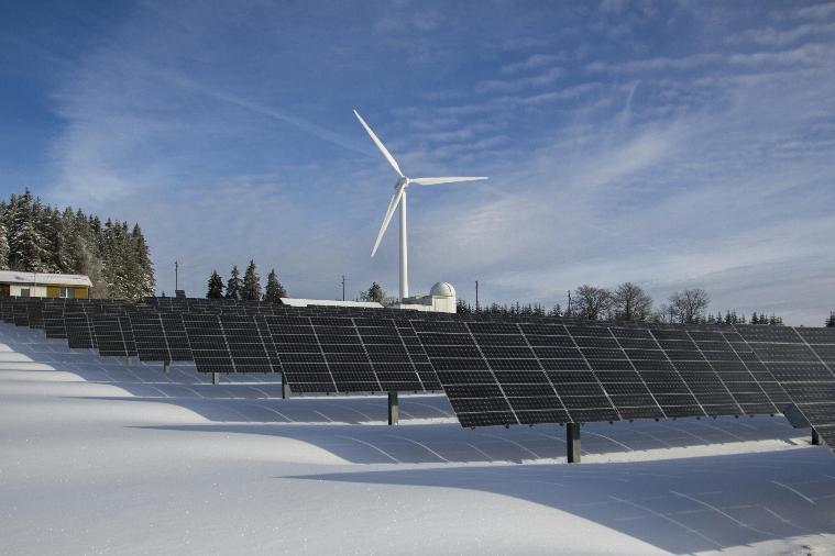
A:
{"label": "entire line of dark solar panels stretching across the snowy field", "polygon": [[102,355],[282,372],[296,393],[442,389],[464,426],[754,415],[794,404],[835,444],[835,329],[167,304],[0,301],[0,313],[20,324],[25,305],[37,326],[40,311],[47,336]]}

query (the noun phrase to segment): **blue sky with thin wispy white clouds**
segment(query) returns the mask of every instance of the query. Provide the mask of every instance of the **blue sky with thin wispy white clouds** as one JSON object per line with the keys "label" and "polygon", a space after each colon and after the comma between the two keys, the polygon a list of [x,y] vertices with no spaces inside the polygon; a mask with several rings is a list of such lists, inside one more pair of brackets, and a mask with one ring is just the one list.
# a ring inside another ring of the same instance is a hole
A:
{"label": "blue sky with thin wispy white clouds", "polygon": [[711,311],[835,310],[835,3],[0,4],[0,194],[139,221],[157,292],[252,258],[294,297],[565,304],[700,287]]}

